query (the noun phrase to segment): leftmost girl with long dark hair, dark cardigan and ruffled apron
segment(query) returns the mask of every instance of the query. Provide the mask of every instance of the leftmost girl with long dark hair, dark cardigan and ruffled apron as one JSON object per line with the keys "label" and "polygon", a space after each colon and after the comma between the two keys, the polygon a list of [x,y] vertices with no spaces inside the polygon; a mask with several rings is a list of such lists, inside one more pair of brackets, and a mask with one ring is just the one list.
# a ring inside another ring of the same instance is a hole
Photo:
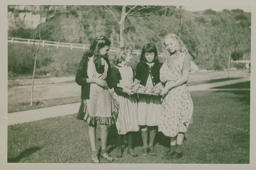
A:
{"label": "leftmost girl with long dark hair, dark cardigan and ruffled apron", "polygon": [[[108,59],[111,41],[105,36],[94,39],[90,50],[84,53],[76,73],[75,81],[81,87],[81,99],[84,103],[84,122],[89,123],[89,138],[92,148],[92,161],[99,163],[96,151],[96,126],[101,129],[101,157],[114,161],[106,153],[108,126],[116,121],[117,112],[113,105],[109,84],[111,66]],[[113,111],[114,110],[114,111]]]}

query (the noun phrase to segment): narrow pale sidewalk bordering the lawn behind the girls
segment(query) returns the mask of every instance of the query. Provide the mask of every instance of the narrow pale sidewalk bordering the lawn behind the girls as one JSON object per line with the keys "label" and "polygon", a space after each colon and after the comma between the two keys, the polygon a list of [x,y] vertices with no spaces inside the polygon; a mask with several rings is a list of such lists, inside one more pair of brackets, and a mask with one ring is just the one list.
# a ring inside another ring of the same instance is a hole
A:
{"label": "narrow pale sidewalk bordering the lawn behind the girls", "polygon": [[[209,84],[200,84],[195,86],[189,86],[189,91],[201,91],[201,90],[228,90],[228,89],[210,89],[219,86],[225,86],[229,84],[241,83],[250,81],[250,78],[229,80],[224,82],[216,82]],[[229,90],[250,90],[250,89],[229,89]],[[54,106],[48,108],[27,110],[8,114],[8,125],[22,124],[27,122],[33,122],[35,120],[41,120],[49,117],[64,116],[68,114],[75,114],[78,112],[80,103],[67,104],[61,106]]]}

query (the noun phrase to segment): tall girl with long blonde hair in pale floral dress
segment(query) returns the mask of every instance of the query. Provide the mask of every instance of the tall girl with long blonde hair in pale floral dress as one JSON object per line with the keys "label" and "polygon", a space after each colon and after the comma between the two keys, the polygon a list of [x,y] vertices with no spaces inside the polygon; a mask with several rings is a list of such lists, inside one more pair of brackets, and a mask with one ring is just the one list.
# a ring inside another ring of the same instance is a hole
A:
{"label": "tall girl with long blonde hair in pale floral dress", "polygon": [[170,150],[164,158],[174,159],[182,157],[184,133],[187,131],[194,108],[186,85],[190,55],[175,34],[168,34],[164,38],[164,45],[169,56],[160,69],[160,80],[165,83],[165,87],[161,91],[163,101],[158,130],[170,137]]}

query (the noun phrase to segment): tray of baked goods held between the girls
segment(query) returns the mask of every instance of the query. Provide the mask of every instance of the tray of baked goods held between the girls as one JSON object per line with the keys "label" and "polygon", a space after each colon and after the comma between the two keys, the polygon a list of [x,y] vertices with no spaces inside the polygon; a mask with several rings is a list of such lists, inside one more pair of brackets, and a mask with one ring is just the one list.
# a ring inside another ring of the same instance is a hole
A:
{"label": "tray of baked goods held between the girls", "polygon": [[161,90],[155,89],[154,87],[145,87],[141,84],[137,84],[131,87],[131,89],[138,94],[160,95],[161,93]]}

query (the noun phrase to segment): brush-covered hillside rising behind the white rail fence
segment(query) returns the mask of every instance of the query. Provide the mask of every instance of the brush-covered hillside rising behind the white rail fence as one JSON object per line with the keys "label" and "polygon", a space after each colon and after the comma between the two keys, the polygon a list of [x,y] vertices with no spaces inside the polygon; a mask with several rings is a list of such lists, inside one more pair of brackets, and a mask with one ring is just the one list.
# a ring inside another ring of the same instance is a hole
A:
{"label": "brush-covered hillside rising behind the white rail fence", "polygon": [[[115,12],[120,13],[120,8]],[[112,46],[119,46],[118,23],[103,6],[67,6],[65,10],[48,10],[46,18],[41,27],[45,40],[89,44],[94,37],[106,35]],[[200,69],[227,68],[230,51],[250,56],[251,13],[239,9],[190,12],[172,7],[166,15],[131,16],[125,22],[125,44],[141,50],[147,42],[154,42],[163,52],[163,37],[179,34],[180,25],[181,39]],[[14,28],[8,36],[33,38],[33,31]]]}

